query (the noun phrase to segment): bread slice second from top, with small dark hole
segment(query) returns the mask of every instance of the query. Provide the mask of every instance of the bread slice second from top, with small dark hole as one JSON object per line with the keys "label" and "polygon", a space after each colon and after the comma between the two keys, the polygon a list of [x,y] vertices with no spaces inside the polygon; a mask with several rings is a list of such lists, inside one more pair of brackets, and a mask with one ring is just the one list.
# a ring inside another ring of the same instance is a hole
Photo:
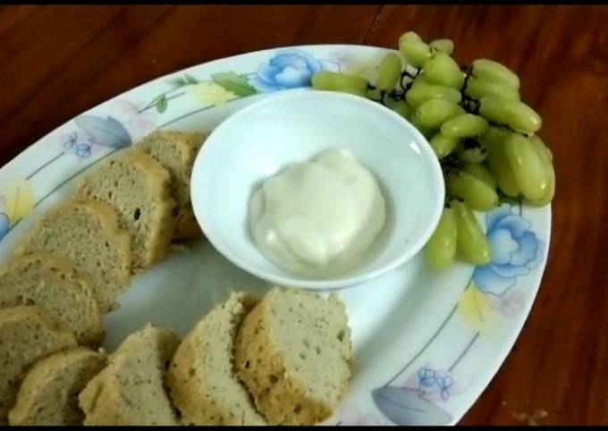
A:
{"label": "bread slice second from top, with small dark hole", "polygon": [[131,149],[107,159],[80,182],[77,199],[95,199],[114,207],[131,234],[132,271],[165,258],[175,229],[171,178],[151,156]]}

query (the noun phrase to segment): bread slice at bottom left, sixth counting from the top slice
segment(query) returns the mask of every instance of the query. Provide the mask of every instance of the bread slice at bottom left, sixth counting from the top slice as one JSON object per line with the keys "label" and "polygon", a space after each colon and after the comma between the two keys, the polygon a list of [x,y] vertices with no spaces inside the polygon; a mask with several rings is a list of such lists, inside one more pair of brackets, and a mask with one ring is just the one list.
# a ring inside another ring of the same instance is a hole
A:
{"label": "bread slice at bottom left, sixth counting from the top slice", "polygon": [[80,425],[78,394],[106,365],[106,355],[84,347],[38,360],[26,374],[8,414],[13,426]]}

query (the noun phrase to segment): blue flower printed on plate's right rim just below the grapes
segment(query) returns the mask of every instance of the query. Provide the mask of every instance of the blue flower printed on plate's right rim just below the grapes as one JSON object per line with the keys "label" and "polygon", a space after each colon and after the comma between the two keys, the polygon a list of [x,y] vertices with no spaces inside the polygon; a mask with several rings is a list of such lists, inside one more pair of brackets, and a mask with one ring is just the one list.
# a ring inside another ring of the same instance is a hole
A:
{"label": "blue flower printed on plate's right rim just below the grapes", "polygon": [[543,260],[544,243],[530,231],[531,223],[502,204],[486,216],[486,236],[492,247],[492,262],[477,266],[473,280],[481,292],[501,296],[528,275]]}

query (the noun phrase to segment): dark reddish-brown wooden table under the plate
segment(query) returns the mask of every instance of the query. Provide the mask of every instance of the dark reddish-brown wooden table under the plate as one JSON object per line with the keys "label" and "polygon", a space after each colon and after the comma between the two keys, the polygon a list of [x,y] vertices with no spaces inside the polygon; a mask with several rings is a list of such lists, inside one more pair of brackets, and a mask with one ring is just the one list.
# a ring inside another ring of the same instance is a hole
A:
{"label": "dark reddish-brown wooden table under the plate", "polygon": [[[490,56],[544,117],[557,195],[549,264],[515,348],[462,424],[608,424],[608,7],[0,6],[0,163],[167,72],[262,48],[395,46],[405,30]],[[604,245],[603,245],[604,244]],[[604,262],[604,264],[602,263]]]}

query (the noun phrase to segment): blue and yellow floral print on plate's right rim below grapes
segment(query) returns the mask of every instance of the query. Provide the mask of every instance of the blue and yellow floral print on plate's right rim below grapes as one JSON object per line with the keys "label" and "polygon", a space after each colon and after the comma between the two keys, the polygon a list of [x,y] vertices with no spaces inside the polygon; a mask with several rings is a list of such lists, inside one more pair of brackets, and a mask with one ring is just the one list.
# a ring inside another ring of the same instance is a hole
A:
{"label": "blue and yellow floral print on plate's right rim below grapes", "polygon": [[[475,268],[471,282],[460,297],[460,315],[477,333],[457,361],[448,370],[425,365],[411,374],[404,385],[387,384],[372,394],[377,409],[396,425],[450,422],[450,414],[437,404],[465,391],[473,379],[455,374],[453,368],[480,334],[496,329],[498,315],[512,317],[523,308],[526,294],[513,288],[519,277],[530,274],[540,265],[544,242],[532,231],[532,224],[514,212],[513,207],[520,211],[521,202],[516,205],[503,203],[486,214],[486,238],[491,244],[493,258],[490,264]],[[391,382],[394,380],[395,377]]]}

